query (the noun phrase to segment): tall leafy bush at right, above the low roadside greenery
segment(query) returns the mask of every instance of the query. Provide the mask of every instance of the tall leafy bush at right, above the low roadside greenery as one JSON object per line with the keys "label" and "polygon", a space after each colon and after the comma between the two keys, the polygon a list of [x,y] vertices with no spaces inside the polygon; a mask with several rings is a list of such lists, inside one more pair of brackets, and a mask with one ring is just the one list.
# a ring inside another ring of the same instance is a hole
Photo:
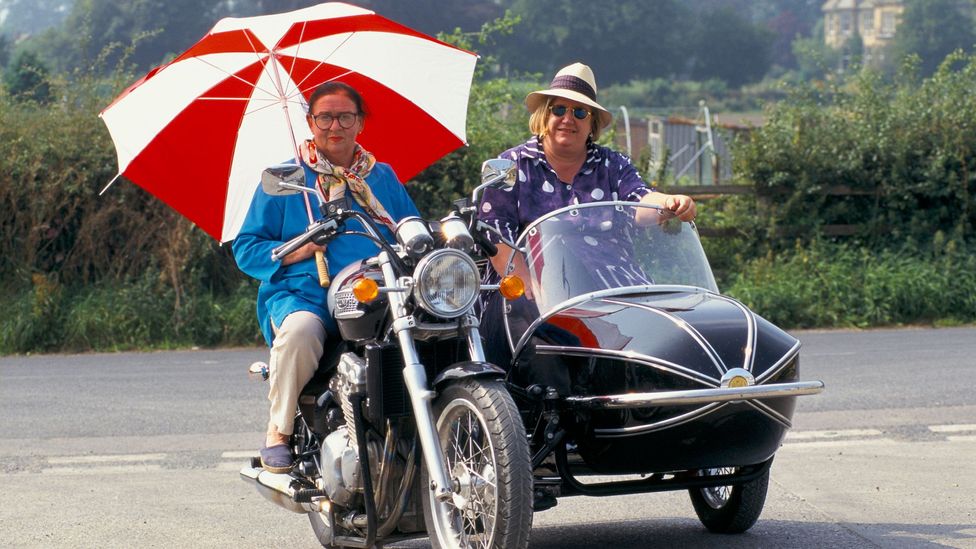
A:
{"label": "tall leafy bush at right, above the low roadside greenery", "polygon": [[[976,56],[950,55],[924,80],[915,66],[797,87],[737,143],[736,177],[759,197],[757,218],[739,221],[757,242],[782,249],[828,224],[859,226],[874,249],[972,239]],[[827,192],[838,186],[854,193]]]}

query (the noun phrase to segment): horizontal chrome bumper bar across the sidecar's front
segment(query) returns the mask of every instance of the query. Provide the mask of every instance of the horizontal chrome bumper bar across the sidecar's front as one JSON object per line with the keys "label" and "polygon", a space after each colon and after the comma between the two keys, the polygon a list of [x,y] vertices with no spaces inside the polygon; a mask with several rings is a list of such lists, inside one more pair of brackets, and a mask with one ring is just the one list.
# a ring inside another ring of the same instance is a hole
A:
{"label": "horizontal chrome bumper bar across the sidecar's front", "polygon": [[622,395],[568,396],[566,404],[575,408],[612,410],[618,408],[648,408],[654,406],[687,406],[712,404],[736,400],[760,398],[796,397],[815,395],[823,391],[822,381],[794,381],[770,383],[726,389],[689,389],[685,391],[658,391],[653,393],[627,393]]}

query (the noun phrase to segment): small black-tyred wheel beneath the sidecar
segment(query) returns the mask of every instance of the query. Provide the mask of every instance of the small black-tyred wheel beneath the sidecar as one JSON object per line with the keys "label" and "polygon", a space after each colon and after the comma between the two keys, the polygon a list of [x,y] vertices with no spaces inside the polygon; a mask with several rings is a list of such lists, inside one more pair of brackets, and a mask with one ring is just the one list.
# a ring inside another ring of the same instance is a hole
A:
{"label": "small black-tyred wheel beneath the sidecar", "polygon": [[[734,468],[709,469],[709,474],[734,472]],[[759,520],[766,503],[769,469],[745,484],[688,490],[695,513],[709,532],[740,534]]]}

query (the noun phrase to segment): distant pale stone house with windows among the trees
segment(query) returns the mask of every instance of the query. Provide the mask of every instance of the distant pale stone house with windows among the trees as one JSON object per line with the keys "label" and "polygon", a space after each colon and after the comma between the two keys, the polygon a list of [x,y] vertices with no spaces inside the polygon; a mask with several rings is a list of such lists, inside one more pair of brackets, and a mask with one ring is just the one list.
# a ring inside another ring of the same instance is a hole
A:
{"label": "distant pale stone house with windows among the trees", "polygon": [[[865,65],[884,61],[885,49],[891,44],[905,11],[903,0],[828,0],[824,2],[824,42],[834,49],[843,48],[855,34],[863,44]],[[847,66],[850,59],[842,60]]]}

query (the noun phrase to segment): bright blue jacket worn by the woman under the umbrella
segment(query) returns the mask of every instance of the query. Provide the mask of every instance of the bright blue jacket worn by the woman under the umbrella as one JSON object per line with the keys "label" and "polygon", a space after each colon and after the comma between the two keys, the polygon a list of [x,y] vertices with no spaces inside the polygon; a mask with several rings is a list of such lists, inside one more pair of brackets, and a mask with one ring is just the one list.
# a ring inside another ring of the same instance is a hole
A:
{"label": "bright blue jacket worn by the woman under the umbrella", "polygon": [[[312,187],[316,177],[317,174],[306,166],[306,185]],[[394,220],[420,215],[389,164],[377,162],[366,177],[366,182]],[[310,195],[309,202],[313,215],[318,219],[321,217],[318,199]],[[352,200],[350,202],[353,203],[353,208],[362,211],[359,204]],[[335,319],[327,310],[328,288],[319,285],[315,258],[287,266],[271,261],[271,250],[305,232],[308,224],[308,213],[302,194],[271,196],[259,185],[241,231],[234,240],[237,266],[247,275],[261,281],[257,299],[258,322],[268,346],[274,339],[271,323],[281,326],[285,317],[295,311],[315,313],[331,335],[338,333]],[[345,230],[363,231],[363,227],[358,221],[350,220],[345,223]],[[381,227],[381,233],[388,241],[394,241],[386,227]],[[329,275],[335,276],[346,265],[376,255],[377,252],[378,247],[368,238],[340,236],[326,247]]]}

